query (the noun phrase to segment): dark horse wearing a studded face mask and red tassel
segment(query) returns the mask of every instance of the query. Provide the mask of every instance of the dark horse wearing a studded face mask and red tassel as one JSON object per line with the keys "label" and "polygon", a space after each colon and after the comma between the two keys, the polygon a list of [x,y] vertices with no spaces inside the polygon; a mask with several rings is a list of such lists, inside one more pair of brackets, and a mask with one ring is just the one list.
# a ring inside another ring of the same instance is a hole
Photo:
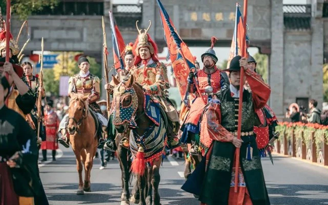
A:
{"label": "dark horse wearing a studded face mask and red tassel", "polygon": [[139,84],[134,83],[132,75],[127,81],[122,82],[113,76],[113,82],[116,85],[112,110],[115,129],[118,133],[125,133],[133,127],[130,131],[129,147],[134,157],[131,170],[137,176],[139,205],[151,205],[152,202],[159,205],[159,168],[167,132],[165,118],[161,113],[157,113],[158,124],[150,119],[144,107],[149,96],[146,96]]}

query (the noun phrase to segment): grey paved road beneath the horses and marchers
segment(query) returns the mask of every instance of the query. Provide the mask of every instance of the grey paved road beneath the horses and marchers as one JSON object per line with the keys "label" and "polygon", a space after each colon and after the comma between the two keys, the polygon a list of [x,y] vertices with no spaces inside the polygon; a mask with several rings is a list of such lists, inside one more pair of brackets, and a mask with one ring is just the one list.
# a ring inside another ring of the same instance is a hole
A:
{"label": "grey paved road beneath the horses and marchers", "polygon": [[[91,172],[92,192],[78,196],[75,194],[78,174],[74,154],[70,149],[61,147],[61,150],[63,153],[60,153],[62,156],[59,159],[40,167],[50,204],[120,203],[120,169],[116,159],[111,160],[104,170],[99,170],[99,159],[95,159]],[[164,160],[160,169],[161,204],[198,205],[197,199],[180,189],[185,181],[181,176],[184,161],[174,158],[172,160]],[[269,159],[262,159],[271,204],[328,204],[328,169],[280,156],[275,156],[274,162],[275,165],[272,166]]]}

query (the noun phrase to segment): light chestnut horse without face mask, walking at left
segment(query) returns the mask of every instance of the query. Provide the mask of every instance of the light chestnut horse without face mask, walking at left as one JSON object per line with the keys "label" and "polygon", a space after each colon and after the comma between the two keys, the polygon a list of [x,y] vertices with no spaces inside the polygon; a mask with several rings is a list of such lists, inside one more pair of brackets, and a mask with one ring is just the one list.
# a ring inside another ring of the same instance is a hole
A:
{"label": "light chestnut horse without face mask, walking at left", "polygon": [[[68,108],[68,132],[69,139],[76,157],[78,172],[78,190],[76,194],[84,194],[84,191],[91,192],[90,172],[93,165],[93,157],[96,154],[98,140],[96,137],[96,124],[89,112],[86,103],[87,96],[80,94],[71,95]],[[82,179],[83,164],[85,168],[85,179]]]}

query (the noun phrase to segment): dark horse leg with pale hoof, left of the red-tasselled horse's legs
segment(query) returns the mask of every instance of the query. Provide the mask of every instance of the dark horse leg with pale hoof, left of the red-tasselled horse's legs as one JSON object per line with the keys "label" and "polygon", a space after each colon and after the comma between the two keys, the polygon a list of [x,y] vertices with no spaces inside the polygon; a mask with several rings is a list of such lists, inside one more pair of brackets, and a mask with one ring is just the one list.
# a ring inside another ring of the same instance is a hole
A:
{"label": "dark horse leg with pale hoof, left of the red-tasselled horse's legs", "polygon": [[129,161],[128,161],[128,149],[124,149],[121,146],[117,147],[117,158],[119,161],[119,166],[122,173],[122,195],[121,195],[121,205],[130,204],[130,191],[129,191]]}

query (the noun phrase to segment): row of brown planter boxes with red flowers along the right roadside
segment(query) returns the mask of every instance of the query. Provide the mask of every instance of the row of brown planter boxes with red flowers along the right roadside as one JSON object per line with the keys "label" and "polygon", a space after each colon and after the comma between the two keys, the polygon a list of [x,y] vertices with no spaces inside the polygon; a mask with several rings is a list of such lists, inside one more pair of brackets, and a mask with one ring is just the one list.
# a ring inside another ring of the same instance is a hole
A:
{"label": "row of brown planter boxes with red flowers along the right roadside", "polygon": [[275,141],[275,151],[328,166],[328,126],[282,122],[276,127],[280,132]]}

